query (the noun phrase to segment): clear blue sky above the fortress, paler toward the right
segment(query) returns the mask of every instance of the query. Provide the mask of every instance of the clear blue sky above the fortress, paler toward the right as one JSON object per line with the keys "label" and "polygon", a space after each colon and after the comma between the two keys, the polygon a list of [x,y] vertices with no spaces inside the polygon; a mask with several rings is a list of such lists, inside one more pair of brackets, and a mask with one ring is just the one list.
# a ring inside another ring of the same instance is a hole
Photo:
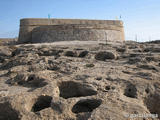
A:
{"label": "clear blue sky above the fortress, paler toward the right", "polygon": [[21,18],[114,20],[122,16],[126,39],[160,39],[160,0],[1,0],[0,38],[16,37]]}

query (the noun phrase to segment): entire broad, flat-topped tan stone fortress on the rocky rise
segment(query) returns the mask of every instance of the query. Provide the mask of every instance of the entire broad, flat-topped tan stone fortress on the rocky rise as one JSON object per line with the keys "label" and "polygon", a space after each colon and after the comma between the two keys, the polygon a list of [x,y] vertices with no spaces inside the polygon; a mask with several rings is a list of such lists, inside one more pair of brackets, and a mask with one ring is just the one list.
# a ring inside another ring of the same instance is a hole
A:
{"label": "entire broad, flat-topped tan stone fortress on the rocky rise", "polygon": [[55,41],[124,42],[124,27],[120,20],[86,19],[21,19],[19,43]]}

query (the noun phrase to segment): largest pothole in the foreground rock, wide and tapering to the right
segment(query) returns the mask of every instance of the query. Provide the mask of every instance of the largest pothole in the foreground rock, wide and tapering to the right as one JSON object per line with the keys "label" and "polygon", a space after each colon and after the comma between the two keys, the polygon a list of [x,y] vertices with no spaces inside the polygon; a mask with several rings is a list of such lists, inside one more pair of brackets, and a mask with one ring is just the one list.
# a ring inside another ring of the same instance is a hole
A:
{"label": "largest pothole in the foreground rock, wide and tapering to the right", "polygon": [[72,97],[83,97],[96,95],[96,89],[88,84],[83,84],[74,81],[64,81],[59,85],[60,97],[65,99]]}

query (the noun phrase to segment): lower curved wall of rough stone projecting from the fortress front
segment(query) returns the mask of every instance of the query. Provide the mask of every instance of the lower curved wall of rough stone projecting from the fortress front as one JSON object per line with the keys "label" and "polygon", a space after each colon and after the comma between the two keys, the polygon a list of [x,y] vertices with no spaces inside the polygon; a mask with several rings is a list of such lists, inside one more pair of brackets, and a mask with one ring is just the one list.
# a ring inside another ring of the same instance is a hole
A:
{"label": "lower curved wall of rough stone projecting from the fortress front", "polygon": [[96,41],[108,40],[119,41],[123,40],[121,31],[114,27],[93,25],[56,25],[42,26],[33,29],[32,43],[39,42],[55,42],[55,41]]}

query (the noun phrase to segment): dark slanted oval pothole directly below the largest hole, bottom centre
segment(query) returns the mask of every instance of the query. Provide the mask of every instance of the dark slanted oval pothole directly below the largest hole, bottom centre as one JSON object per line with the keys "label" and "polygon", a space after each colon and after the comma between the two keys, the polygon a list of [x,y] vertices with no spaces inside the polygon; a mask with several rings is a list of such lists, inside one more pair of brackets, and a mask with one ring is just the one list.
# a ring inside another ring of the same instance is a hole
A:
{"label": "dark slanted oval pothole directly below the largest hole, bottom centre", "polygon": [[78,101],[72,108],[73,113],[92,112],[102,103],[100,99],[84,99]]}

